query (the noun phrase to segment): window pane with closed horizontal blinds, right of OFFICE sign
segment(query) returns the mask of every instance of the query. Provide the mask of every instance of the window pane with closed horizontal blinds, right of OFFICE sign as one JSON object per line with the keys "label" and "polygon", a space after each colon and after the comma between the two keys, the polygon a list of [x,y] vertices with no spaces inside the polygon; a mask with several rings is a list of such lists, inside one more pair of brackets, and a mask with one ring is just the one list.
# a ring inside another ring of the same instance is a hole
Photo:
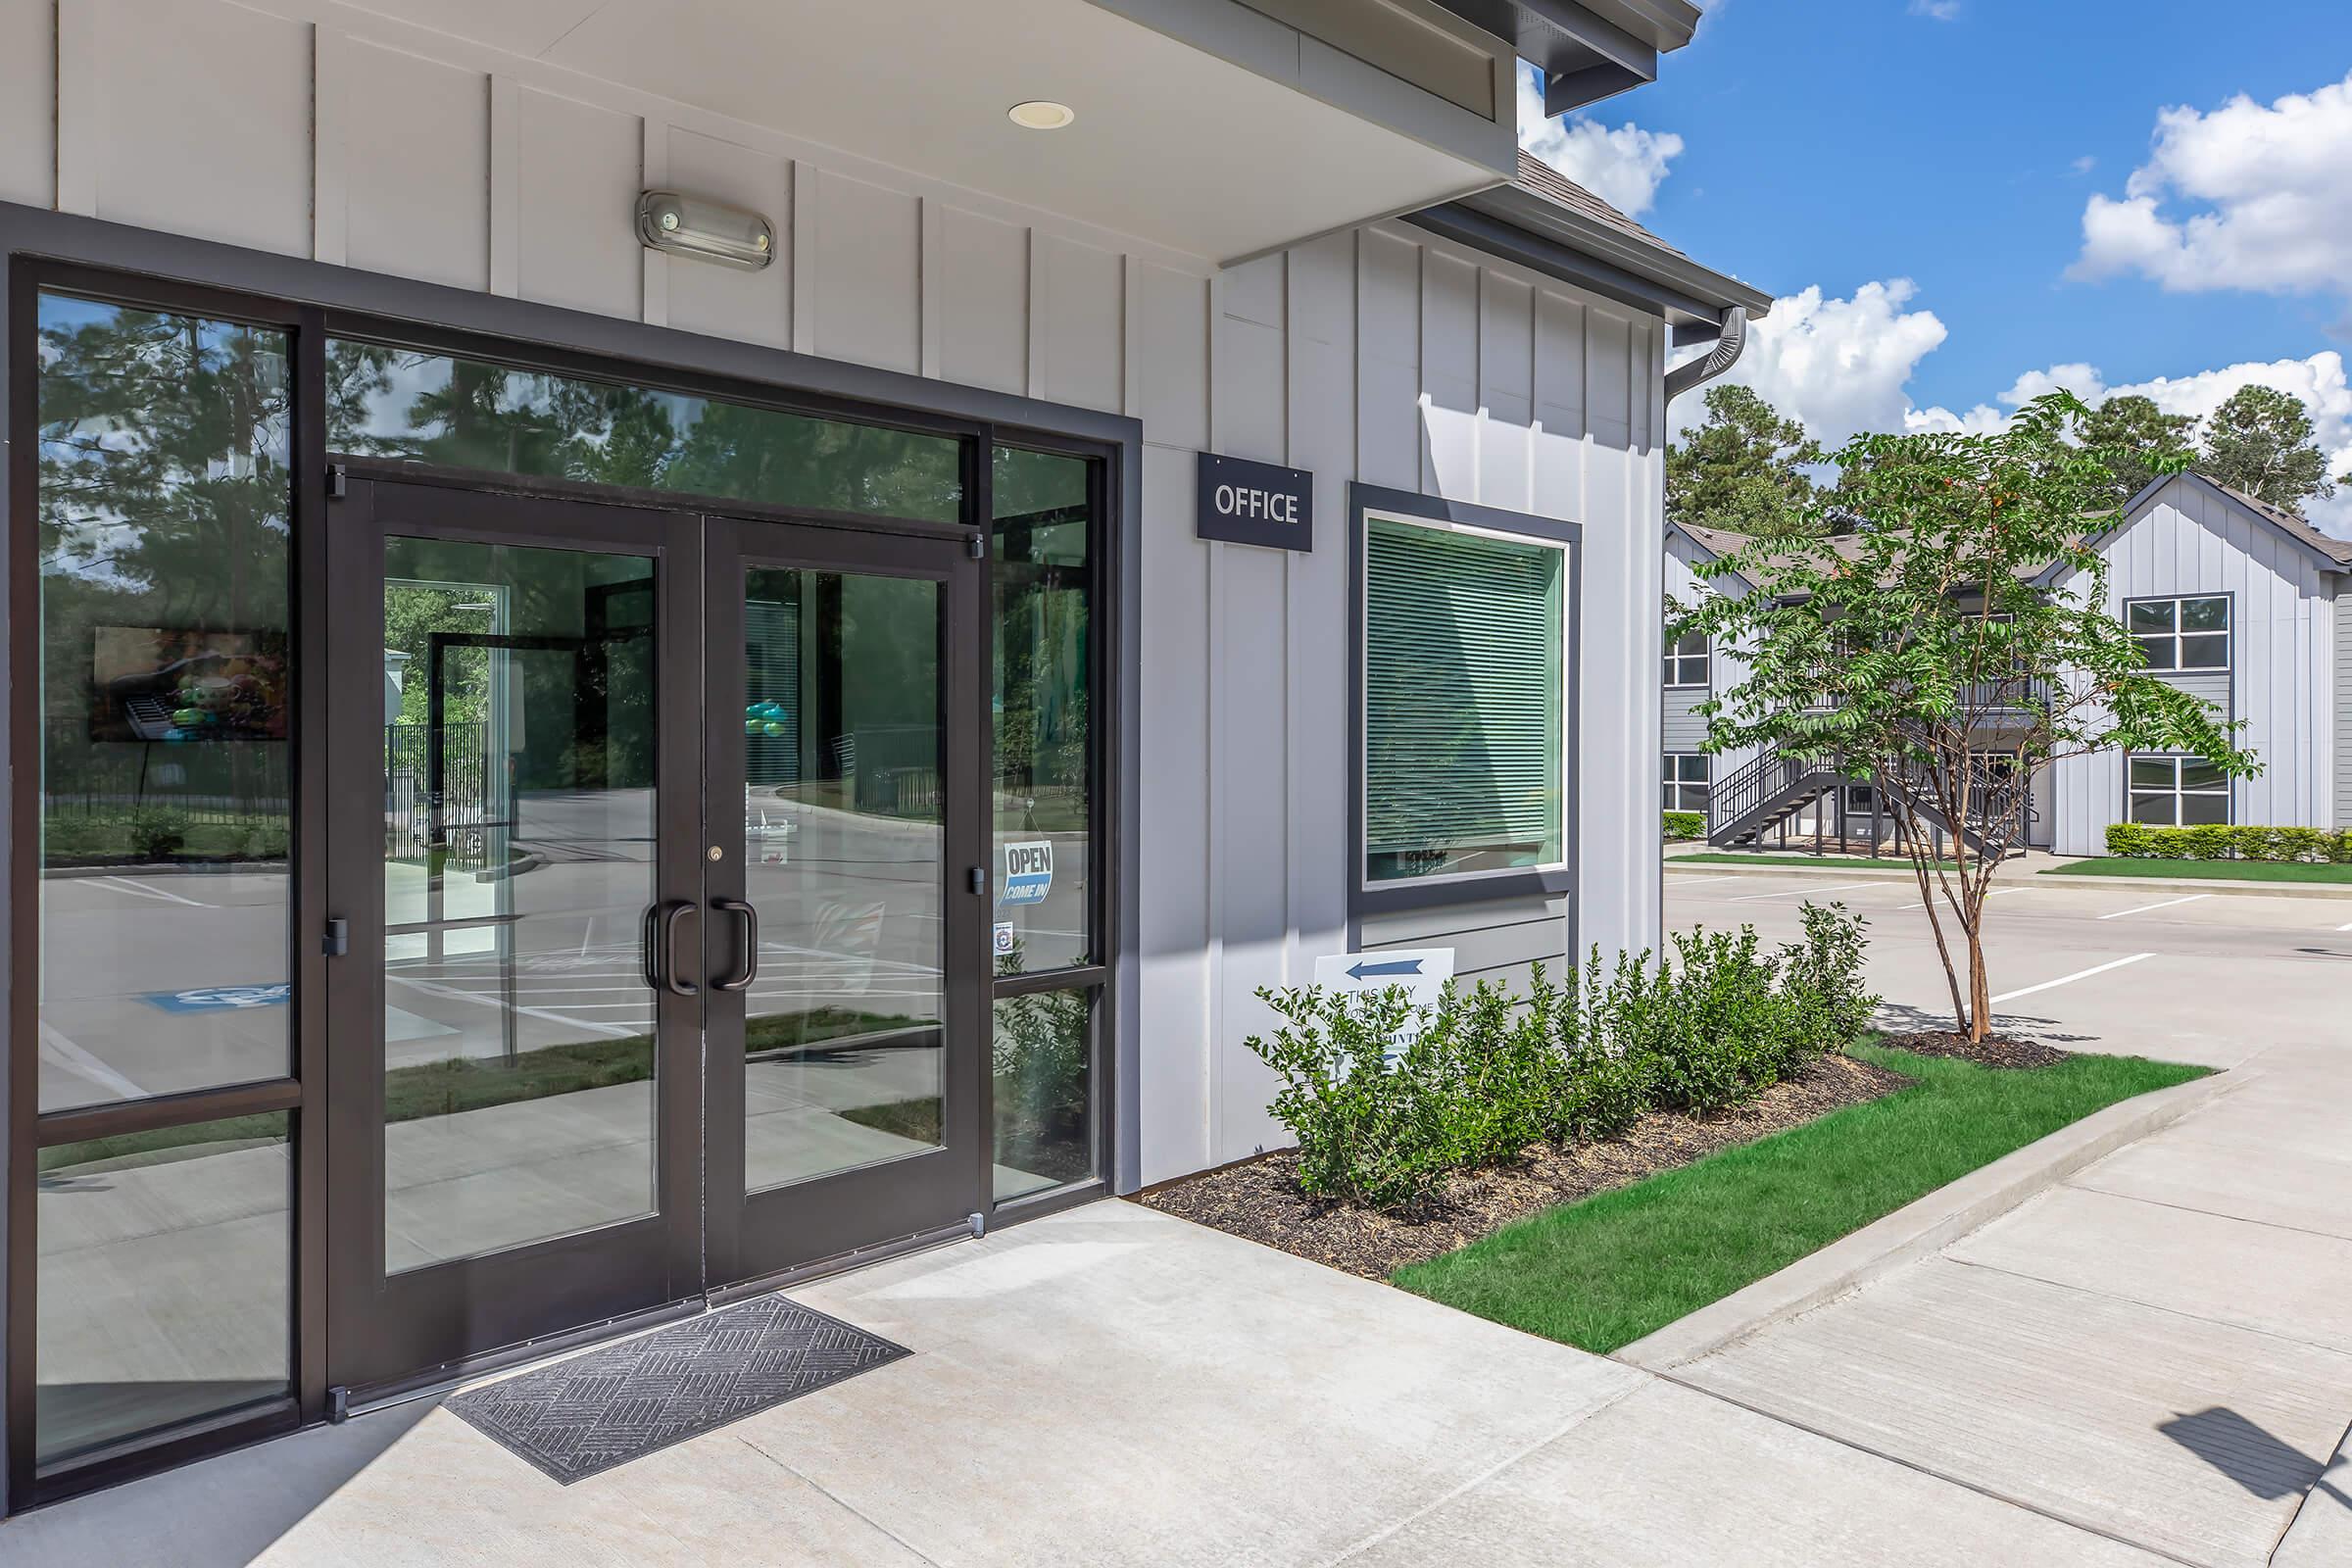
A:
{"label": "window pane with closed horizontal blinds, right of OFFICE sign", "polygon": [[1564,552],[1364,520],[1364,882],[1564,858]]}

